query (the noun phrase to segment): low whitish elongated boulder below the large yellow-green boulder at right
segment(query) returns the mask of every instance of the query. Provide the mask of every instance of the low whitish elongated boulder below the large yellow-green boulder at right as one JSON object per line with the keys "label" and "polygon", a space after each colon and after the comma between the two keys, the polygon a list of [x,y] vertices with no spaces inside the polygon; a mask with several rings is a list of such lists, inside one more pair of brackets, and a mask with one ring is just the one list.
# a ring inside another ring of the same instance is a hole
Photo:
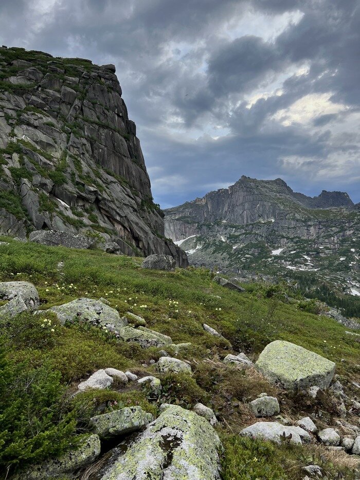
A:
{"label": "low whitish elongated boulder below the large yellow-green boulder at right", "polygon": [[262,438],[264,440],[281,443],[281,436],[285,434],[289,437],[291,443],[302,445],[302,442],[310,442],[311,437],[307,431],[299,426],[285,426],[279,422],[257,422],[247,426],[240,432],[240,435],[246,435],[251,438]]}

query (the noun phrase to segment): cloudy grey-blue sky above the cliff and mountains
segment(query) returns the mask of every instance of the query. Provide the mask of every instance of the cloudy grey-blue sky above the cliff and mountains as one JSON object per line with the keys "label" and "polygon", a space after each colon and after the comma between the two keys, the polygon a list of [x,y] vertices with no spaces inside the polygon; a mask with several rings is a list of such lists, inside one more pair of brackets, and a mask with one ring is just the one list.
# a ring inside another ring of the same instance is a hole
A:
{"label": "cloudy grey-blue sky above the cliff and mountains", "polygon": [[357,0],[1,0],[0,42],[116,65],[162,208],[241,175],[360,202]]}

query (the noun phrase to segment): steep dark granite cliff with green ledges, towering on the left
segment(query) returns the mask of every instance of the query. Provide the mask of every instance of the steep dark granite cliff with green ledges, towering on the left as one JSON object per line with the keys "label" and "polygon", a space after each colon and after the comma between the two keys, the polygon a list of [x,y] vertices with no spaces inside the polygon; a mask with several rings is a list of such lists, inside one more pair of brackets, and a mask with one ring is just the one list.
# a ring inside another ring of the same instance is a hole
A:
{"label": "steep dark granite cliff with green ledges, towering on the left", "polygon": [[187,264],[164,237],[114,65],[0,48],[0,164],[1,234],[81,233]]}

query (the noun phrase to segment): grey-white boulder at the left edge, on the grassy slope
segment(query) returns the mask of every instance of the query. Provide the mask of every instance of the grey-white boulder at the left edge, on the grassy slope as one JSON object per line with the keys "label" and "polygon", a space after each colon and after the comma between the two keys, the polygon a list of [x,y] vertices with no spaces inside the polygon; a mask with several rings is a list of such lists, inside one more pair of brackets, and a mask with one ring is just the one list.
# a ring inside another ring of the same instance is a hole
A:
{"label": "grey-white boulder at the left edge, on the grassy slope", "polygon": [[[14,307],[15,305],[18,305],[17,307],[18,310],[19,310],[20,304],[22,307],[25,304],[24,310],[36,310],[40,306],[39,293],[37,289],[35,288],[34,285],[32,285],[32,283],[27,281],[1,282],[0,283],[0,299],[9,300],[9,304],[14,299],[22,300],[20,301],[19,304],[13,303]],[[3,305],[3,307],[0,308],[0,311],[4,307],[6,307],[6,305]],[[20,313],[20,312],[16,312],[16,313]]]}

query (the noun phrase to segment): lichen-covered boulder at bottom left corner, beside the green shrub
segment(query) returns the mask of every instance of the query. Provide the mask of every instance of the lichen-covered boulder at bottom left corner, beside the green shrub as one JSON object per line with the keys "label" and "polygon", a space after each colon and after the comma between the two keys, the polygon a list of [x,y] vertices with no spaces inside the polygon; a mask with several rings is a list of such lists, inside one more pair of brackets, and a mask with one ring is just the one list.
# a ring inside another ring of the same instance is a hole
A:
{"label": "lichen-covered boulder at bottom left corner, beside the green shrub", "polygon": [[[91,464],[100,454],[100,438],[89,435],[84,438],[77,450],[71,450],[59,458],[47,460],[42,464],[32,465],[24,472],[15,475],[13,480],[46,480],[64,478],[87,464]],[[73,476],[71,476],[73,478]]]}

